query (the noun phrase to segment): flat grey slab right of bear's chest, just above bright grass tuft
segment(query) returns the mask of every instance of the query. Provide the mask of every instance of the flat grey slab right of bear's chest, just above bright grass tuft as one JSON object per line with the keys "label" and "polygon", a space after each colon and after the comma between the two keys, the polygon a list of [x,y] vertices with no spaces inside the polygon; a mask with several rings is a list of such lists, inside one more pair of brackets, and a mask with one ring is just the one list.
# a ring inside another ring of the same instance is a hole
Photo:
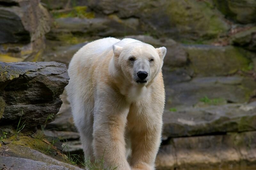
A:
{"label": "flat grey slab right of bear's chest, just above bright grass tuft", "polygon": [[252,78],[228,76],[189,80],[188,73],[184,71],[178,76],[183,82],[175,82],[172,80],[176,78],[172,75],[173,72],[169,74],[164,71],[167,110],[171,107],[194,106],[205,96],[210,99],[223,99],[229,103],[245,103],[249,101],[256,87]]}

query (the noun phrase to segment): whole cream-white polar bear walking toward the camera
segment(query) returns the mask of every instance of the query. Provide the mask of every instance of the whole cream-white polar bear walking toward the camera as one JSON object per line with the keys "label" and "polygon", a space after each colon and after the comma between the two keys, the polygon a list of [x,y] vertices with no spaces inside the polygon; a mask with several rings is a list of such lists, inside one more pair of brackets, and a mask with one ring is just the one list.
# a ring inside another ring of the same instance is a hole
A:
{"label": "whole cream-white polar bear walking toward the camera", "polygon": [[155,169],[165,54],[138,40],[103,38],[73,56],[67,92],[86,158],[104,155],[104,166],[118,170]]}

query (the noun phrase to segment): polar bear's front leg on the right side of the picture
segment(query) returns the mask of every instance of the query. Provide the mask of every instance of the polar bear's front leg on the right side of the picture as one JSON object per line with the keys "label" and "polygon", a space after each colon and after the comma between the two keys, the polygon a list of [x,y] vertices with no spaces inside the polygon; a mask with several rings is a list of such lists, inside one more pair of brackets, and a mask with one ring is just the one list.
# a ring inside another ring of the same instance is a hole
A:
{"label": "polar bear's front leg on the right side of the picture", "polygon": [[128,124],[132,125],[129,133],[132,143],[130,163],[133,170],[154,170],[156,154],[161,143],[164,106],[145,104],[135,103],[128,115]]}

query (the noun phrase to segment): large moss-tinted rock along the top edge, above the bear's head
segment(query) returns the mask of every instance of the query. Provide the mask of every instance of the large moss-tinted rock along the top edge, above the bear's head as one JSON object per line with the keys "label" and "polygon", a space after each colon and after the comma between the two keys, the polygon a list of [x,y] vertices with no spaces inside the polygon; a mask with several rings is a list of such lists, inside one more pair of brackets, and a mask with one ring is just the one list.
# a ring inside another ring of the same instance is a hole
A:
{"label": "large moss-tinted rock along the top edge, above the bear's head", "polygon": [[143,31],[158,37],[207,39],[229,29],[210,1],[88,0],[88,6],[105,15],[139,18]]}

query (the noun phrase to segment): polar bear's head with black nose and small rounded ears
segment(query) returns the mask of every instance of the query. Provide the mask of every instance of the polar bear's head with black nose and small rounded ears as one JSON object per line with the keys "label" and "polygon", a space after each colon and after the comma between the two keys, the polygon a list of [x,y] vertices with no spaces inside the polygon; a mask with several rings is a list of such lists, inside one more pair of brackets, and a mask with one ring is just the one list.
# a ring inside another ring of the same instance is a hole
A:
{"label": "polar bear's head with black nose and small rounded ears", "polygon": [[113,53],[115,72],[122,72],[124,81],[146,86],[161,71],[166,48],[154,48],[143,42],[132,42],[124,47],[113,45]]}

